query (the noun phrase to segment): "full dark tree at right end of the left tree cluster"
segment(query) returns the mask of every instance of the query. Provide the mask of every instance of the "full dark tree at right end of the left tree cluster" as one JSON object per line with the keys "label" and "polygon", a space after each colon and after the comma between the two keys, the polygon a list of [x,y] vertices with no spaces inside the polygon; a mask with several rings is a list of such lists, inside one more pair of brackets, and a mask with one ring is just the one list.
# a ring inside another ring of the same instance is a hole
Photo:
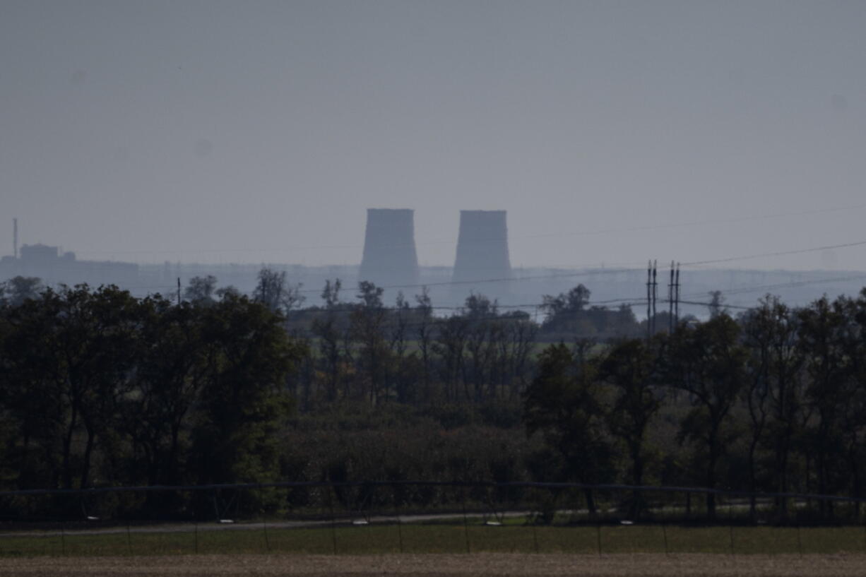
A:
{"label": "full dark tree at right end of the left tree cluster", "polygon": [[286,377],[303,351],[282,317],[246,297],[199,308],[208,339],[193,452],[199,483],[275,480],[276,431],[292,402]]}

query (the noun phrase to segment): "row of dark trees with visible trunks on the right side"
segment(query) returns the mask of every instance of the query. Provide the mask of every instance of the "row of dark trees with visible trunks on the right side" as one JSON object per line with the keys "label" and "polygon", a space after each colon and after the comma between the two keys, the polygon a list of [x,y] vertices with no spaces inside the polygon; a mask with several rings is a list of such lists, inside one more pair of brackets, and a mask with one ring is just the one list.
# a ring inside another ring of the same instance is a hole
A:
{"label": "row of dark trees with visible trunks on the right side", "polygon": [[585,483],[859,497],[864,403],[866,289],[804,308],[766,296],[737,318],[717,310],[596,354],[548,347],[525,421],[556,449],[562,473]]}

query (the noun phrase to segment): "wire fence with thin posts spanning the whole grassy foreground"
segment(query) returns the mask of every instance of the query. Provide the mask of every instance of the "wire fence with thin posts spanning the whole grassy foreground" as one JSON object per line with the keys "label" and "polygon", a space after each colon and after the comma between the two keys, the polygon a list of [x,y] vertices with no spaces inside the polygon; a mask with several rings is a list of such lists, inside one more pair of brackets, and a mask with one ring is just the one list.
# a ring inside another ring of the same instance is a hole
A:
{"label": "wire fence with thin posts spanning the whole grassy foreground", "polygon": [[580,483],[247,483],[0,492],[0,555],[866,551],[846,496]]}

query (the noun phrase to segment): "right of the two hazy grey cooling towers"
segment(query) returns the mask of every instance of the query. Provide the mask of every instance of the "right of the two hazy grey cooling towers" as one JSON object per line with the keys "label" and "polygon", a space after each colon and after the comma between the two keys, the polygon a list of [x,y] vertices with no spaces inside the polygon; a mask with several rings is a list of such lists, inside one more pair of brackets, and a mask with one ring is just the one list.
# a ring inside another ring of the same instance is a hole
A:
{"label": "right of the two hazy grey cooling towers", "polygon": [[[506,211],[460,211],[455,282],[511,277],[506,215]],[[455,289],[468,294],[474,288],[456,286]],[[479,285],[479,289],[490,292],[484,285]]]}

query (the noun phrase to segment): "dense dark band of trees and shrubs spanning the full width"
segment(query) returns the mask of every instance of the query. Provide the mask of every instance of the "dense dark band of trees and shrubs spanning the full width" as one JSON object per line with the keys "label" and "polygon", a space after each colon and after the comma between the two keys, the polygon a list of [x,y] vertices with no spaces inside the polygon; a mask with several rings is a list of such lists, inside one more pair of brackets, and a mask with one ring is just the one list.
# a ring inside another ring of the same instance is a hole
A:
{"label": "dense dark band of trees and shrubs spanning the full width", "polygon": [[[805,308],[767,296],[736,318],[715,306],[636,339],[630,310],[587,308],[583,287],[546,297],[540,325],[482,295],[441,316],[426,292],[385,307],[372,283],[353,302],[340,289],[328,282],[301,308],[268,269],[254,295],[199,278],[179,303],[3,285],[0,485],[533,479],[863,494],[866,290]],[[578,338],[586,323],[619,336]]]}

